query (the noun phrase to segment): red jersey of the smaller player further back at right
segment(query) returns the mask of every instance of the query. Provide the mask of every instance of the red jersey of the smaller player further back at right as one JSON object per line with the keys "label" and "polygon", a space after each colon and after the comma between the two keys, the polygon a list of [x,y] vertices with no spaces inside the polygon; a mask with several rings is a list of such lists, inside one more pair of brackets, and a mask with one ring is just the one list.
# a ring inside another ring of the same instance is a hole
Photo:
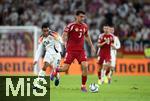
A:
{"label": "red jersey of the smaller player further back at right", "polygon": [[114,42],[114,36],[112,34],[101,34],[98,39],[98,43],[103,43],[107,41],[103,46],[100,47],[99,55],[100,57],[110,57],[111,44]]}

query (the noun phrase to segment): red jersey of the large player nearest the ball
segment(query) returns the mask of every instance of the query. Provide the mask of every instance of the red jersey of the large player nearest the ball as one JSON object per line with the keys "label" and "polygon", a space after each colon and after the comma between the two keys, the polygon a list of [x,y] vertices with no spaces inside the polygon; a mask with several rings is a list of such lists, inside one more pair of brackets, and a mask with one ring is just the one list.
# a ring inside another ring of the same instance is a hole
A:
{"label": "red jersey of the large player nearest the ball", "polygon": [[64,29],[68,33],[67,51],[84,50],[84,36],[88,36],[88,27],[85,23],[70,23]]}

